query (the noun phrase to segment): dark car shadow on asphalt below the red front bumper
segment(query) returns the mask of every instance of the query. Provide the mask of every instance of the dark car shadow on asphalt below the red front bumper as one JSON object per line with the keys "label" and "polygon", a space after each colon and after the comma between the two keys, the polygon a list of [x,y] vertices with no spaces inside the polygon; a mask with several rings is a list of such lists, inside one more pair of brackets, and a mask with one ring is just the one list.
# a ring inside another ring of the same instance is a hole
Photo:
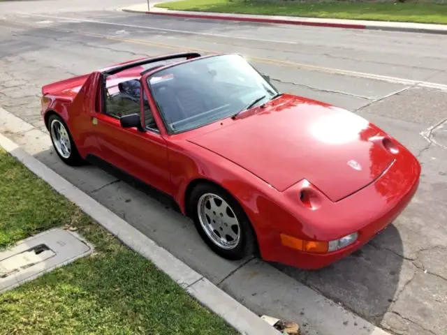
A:
{"label": "dark car shadow on asphalt below the red front bumper", "polygon": [[[379,248],[383,245],[389,248]],[[411,276],[411,269],[403,268],[402,254],[400,233],[391,224],[362,248],[323,269],[305,271],[272,265],[369,322],[380,325],[383,315],[402,290],[406,276]]]}

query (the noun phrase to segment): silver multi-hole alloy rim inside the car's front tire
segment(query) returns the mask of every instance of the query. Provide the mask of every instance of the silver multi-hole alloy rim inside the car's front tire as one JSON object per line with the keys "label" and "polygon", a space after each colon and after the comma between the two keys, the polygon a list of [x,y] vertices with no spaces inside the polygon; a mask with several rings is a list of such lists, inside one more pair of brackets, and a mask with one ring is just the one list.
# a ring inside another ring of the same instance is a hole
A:
{"label": "silver multi-hole alloy rim inside the car's front tire", "polygon": [[219,195],[202,195],[197,203],[197,211],[200,225],[214,244],[226,250],[239,244],[239,221],[230,205]]}

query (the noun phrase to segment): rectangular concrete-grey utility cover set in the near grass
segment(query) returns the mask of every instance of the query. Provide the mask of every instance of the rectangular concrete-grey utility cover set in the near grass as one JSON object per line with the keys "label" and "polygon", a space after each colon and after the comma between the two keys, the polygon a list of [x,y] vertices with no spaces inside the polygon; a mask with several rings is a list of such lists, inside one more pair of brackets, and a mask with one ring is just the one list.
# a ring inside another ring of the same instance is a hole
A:
{"label": "rectangular concrete-grey utility cover set in the near grass", "polygon": [[0,252],[0,293],[93,252],[79,234],[61,228],[24,239]]}

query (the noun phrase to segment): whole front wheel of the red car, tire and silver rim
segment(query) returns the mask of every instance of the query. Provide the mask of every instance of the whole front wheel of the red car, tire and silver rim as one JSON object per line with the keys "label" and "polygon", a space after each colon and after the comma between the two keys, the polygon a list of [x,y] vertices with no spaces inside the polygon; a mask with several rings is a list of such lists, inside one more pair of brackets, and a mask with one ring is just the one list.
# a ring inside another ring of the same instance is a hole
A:
{"label": "whole front wheel of the red car, tire and silver rim", "polygon": [[241,260],[256,251],[256,237],[240,204],[226,191],[210,184],[193,189],[189,212],[200,237],[228,260]]}

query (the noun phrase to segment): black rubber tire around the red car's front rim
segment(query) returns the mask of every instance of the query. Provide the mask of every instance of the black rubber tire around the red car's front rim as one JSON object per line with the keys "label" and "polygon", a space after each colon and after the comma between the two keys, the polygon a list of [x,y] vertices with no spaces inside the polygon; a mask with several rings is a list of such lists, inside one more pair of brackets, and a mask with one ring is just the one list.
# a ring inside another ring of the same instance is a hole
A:
{"label": "black rubber tire around the red car's front rim", "polygon": [[[221,248],[215,244],[214,241],[207,235],[202,227],[202,224],[200,223],[198,202],[200,197],[206,193],[212,193],[225,200],[227,204],[230,205],[240,225],[240,239],[237,245],[230,250]],[[243,258],[258,253],[256,234],[249,221],[249,218],[233,196],[224,191],[222,188],[207,183],[198,184],[193,188],[193,191],[189,196],[188,213],[193,219],[194,225],[196,225],[196,229],[203,241],[205,241],[207,246],[209,246],[214,253],[217,253],[222,258],[226,258],[227,260],[242,260]]]}

